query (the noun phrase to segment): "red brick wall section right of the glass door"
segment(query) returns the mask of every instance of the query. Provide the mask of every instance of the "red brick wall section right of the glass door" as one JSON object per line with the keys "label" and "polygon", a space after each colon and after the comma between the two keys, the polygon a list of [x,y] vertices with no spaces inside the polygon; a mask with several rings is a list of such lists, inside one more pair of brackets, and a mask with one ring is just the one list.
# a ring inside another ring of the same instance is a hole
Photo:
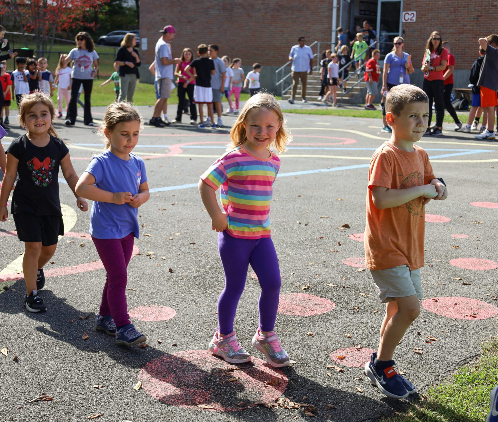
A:
{"label": "red brick wall section right of the glass door", "polygon": [[[435,4],[438,13],[434,13]],[[403,9],[417,12],[416,22],[404,22],[402,26],[405,51],[412,55],[414,63],[422,63],[427,38],[432,31],[439,31],[443,41],[451,42],[455,69],[470,69],[479,57],[478,39],[498,33],[496,1],[404,0]]]}

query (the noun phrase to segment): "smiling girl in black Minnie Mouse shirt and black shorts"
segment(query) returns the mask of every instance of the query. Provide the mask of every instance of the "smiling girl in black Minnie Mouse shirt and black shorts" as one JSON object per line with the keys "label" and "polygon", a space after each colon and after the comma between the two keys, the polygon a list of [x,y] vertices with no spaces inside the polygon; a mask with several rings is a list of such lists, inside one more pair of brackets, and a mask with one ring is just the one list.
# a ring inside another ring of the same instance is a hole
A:
{"label": "smiling girl in black Minnie Mouse shirt and black shorts", "polygon": [[[11,214],[17,237],[24,242],[22,270],[26,282],[24,306],[29,312],[46,311],[38,290],[45,284],[43,265],[64,234],[59,199],[59,167],[75,193],[78,174],[73,169],[69,149],[52,127],[54,104],[44,92],[25,94],[19,104],[19,123],[27,131],[7,148],[7,163],[0,189],[0,221],[8,217],[7,199],[15,181]],[[88,210],[84,198],[76,195],[81,211]]]}

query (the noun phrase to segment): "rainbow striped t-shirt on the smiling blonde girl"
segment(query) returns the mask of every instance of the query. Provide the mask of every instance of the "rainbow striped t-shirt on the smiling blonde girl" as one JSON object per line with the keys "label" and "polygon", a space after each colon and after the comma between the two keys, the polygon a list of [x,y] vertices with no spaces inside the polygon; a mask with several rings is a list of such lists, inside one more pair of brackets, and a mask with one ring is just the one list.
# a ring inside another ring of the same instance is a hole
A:
{"label": "rainbow striped t-shirt on the smiling blonde girl", "polygon": [[270,201],[280,159],[262,159],[239,146],[221,156],[201,176],[214,190],[228,216],[228,233],[240,239],[269,238]]}

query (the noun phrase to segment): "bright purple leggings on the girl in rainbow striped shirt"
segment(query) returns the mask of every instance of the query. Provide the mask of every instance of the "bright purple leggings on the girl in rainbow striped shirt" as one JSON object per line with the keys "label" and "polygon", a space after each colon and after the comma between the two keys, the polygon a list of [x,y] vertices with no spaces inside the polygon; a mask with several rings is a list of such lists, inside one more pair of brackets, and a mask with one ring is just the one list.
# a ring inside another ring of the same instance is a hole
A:
{"label": "bright purple leggings on the girl in rainbow striped shirt", "polygon": [[234,331],[235,313],[246,285],[249,264],[261,286],[259,328],[272,331],[280,294],[280,268],[271,238],[239,239],[225,231],[218,235],[218,250],[225,272],[225,288],[218,299],[220,333],[226,335]]}

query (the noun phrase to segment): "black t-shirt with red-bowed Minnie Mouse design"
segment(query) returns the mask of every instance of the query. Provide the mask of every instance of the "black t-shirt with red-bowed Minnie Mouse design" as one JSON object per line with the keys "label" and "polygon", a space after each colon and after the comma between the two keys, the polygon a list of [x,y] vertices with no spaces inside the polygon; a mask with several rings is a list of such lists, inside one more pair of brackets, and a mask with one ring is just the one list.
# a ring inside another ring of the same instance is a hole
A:
{"label": "black t-shirt with red-bowed Minnie Mouse design", "polygon": [[59,166],[69,153],[66,144],[50,136],[46,146],[37,147],[26,135],[22,135],[12,141],[6,153],[19,160],[19,178],[12,194],[11,214],[29,212],[61,216]]}

